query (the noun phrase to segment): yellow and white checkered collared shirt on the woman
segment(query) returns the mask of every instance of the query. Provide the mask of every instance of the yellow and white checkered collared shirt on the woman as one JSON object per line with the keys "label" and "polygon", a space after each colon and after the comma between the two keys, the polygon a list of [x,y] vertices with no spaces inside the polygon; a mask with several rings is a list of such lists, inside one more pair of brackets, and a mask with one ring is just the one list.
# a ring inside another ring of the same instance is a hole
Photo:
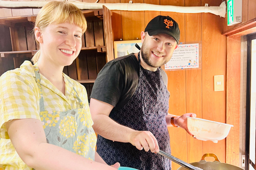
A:
{"label": "yellow and white checkered collared shirt on the woman", "polygon": [[[65,112],[79,108],[73,90],[74,87],[78,97],[84,103],[84,108],[87,112],[90,112],[84,86],[70,79],[64,73],[63,77],[66,83],[65,95],[41,75],[45,111]],[[15,151],[4,124],[7,121],[21,118],[40,120],[39,92],[34,67],[29,61],[25,61],[18,69],[5,72],[0,77],[0,169],[32,169],[21,160]]]}

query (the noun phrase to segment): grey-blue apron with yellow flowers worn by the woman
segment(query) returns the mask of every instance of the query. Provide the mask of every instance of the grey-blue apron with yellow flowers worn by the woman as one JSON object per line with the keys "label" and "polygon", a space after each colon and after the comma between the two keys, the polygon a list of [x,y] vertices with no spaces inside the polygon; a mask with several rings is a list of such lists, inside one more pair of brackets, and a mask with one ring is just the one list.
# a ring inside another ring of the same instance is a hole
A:
{"label": "grey-blue apron with yellow flowers worn by the woman", "polygon": [[97,138],[92,129],[93,122],[91,114],[90,112],[86,112],[83,108],[83,101],[78,97],[75,88],[73,87],[73,90],[80,108],[70,109],[66,112],[45,111],[42,87],[40,84],[41,76],[37,65],[34,65],[34,70],[40,95],[40,117],[47,143],[51,143],[52,145],[59,146],[85,158],[94,160]]}

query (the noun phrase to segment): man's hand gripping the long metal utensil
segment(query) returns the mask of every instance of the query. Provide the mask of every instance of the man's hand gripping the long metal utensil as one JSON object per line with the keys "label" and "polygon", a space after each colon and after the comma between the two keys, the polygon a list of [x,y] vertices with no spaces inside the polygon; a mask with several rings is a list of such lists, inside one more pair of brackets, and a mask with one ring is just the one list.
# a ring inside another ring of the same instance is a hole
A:
{"label": "man's hand gripping the long metal utensil", "polygon": [[151,152],[159,152],[159,146],[154,135],[149,131],[134,131],[131,134],[130,143],[137,149]]}

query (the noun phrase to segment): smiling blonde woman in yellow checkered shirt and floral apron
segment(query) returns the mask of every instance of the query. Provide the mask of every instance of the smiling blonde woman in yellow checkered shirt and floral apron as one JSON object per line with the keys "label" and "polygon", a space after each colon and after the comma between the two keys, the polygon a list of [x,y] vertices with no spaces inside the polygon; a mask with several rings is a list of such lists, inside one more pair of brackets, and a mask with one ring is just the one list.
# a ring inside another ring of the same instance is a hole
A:
{"label": "smiling blonde woman in yellow checkered shirt and floral apron", "polygon": [[47,3],[38,13],[35,64],[25,61],[0,78],[0,167],[119,167],[108,166],[95,153],[86,90],[62,73],[78,56],[86,27],[82,12],[67,2]]}

